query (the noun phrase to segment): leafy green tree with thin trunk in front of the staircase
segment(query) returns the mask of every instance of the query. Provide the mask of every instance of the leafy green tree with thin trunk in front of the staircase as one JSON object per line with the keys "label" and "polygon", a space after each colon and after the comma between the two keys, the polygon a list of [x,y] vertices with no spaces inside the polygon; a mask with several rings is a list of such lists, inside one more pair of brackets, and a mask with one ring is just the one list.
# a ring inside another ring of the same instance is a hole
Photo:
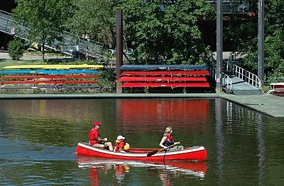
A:
{"label": "leafy green tree with thin trunk in front of the staircase", "polygon": [[43,48],[60,40],[63,25],[70,16],[69,0],[16,0],[16,8],[12,11],[18,33]]}

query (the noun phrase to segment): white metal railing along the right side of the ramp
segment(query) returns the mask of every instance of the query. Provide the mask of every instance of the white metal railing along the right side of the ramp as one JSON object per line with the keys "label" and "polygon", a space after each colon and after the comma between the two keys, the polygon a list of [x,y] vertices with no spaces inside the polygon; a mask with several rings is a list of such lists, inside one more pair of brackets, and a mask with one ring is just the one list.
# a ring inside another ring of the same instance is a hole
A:
{"label": "white metal railing along the right side of the ramp", "polygon": [[252,74],[251,72],[246,71],[245,69],[241,68],[240,66],[236,66],[236,65],[233,65],[232,71],[233,71],[233,74],[239,79],[242,79],[250,83],[252,86],[255,86],[256,88],[261,89],[261,80],[255,74]]}

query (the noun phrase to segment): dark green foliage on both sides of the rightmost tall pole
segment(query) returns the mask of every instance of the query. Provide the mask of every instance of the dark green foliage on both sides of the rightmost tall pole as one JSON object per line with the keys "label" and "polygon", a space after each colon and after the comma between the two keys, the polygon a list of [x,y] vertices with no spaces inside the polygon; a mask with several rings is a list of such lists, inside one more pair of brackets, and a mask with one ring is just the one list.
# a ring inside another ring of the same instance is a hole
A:
{"label": "dark green foliage on both sides of the rightmost tall pole", "polygon": [[[246,54],[244,66],[254,73],[258,68],[258,1],[234,0],[246,4],[245,14],[230,16],[229,27],[224,34],[233,41],[239,52]],[[284,76],[284,1],[265,1],[265,74],[266,76]]]}

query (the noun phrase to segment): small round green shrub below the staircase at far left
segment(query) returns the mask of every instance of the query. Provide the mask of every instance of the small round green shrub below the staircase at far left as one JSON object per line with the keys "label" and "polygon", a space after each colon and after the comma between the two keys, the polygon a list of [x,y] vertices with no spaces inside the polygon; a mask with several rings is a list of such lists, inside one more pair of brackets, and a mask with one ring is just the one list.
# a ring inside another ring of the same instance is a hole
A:
{"label": "small round green shrub below the staircase at far left", "polygon": [[20,40],[11,40],[8,44],[8,54],[13,60],[23,57],[24,46]]}

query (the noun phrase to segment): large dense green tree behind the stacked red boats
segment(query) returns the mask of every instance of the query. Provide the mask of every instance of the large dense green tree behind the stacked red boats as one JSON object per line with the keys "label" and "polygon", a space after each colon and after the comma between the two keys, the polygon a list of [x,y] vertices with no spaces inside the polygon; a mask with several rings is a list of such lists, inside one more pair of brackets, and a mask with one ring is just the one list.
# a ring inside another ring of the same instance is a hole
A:
{"label": "large dense green tree behind the stacked red boats", "polygon": [[198,22],[215,15],[205,0],[123,0],[126,40],[136,48],[136,63],[209,64]]}

